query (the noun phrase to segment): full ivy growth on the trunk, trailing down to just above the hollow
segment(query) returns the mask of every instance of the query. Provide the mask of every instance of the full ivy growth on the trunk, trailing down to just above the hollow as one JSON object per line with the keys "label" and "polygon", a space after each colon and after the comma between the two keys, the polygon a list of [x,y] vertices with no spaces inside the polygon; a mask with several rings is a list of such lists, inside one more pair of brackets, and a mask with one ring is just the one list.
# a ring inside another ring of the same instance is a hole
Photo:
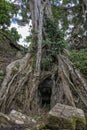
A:
{"label": "full ivy growth on the trunk, trailing down to just above the hollow", "polygon": [[65,48],[64,34],[58,29],[57,24],[46,18],[44,24],[46,31],[46,39],[43,41],[45,46],[46,55],[42,57],[42,68],[48,70],[51,68],[52,63],[56,62],[56,56]]}

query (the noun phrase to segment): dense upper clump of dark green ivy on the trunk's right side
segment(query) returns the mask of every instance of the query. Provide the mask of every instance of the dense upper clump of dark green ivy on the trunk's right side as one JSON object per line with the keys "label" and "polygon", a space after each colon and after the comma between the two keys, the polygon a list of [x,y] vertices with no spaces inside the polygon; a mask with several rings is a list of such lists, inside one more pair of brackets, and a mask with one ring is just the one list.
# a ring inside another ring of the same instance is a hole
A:
{"label": "dense upper clump of dark green ivy on the trunk's right side", "polygon": [[65,48],[64,34],[58,29],[57,24],[49,18],[46,18],[44,27],[47,33],[47,39],[45,41],[47,52],[55,56]]}

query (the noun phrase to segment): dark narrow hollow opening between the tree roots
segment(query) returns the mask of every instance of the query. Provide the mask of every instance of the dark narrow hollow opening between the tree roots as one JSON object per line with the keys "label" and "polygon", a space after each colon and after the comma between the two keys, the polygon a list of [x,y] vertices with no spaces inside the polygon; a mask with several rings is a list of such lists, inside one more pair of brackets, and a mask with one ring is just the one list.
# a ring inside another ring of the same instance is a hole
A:
{"label": "dark narrow hollow opening between the tree roots", "polygon": [[47,78],[38,87],[41,108],[50,109],[52,84],[51,78]]}

